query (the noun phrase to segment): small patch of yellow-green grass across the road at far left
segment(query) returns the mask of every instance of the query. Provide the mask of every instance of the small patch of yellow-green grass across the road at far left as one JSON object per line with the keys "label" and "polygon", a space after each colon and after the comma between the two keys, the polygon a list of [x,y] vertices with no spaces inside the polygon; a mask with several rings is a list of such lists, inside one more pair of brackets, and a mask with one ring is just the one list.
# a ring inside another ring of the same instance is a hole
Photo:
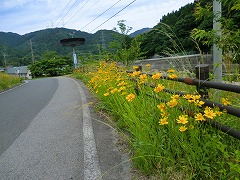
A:
{"label": "small patch of yellow-green grass across the road at far left", "polygon": [[9,89],[21,82],[21,78],[17,76],[0,73],[0,91]]}

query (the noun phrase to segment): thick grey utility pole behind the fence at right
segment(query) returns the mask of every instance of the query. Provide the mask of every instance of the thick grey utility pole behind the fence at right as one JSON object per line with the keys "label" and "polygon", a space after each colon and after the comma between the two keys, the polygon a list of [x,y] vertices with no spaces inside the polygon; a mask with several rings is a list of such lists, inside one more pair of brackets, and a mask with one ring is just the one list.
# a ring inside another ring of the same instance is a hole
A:
{"label": "thick grey utility pole behind the fence at right", "polygon": [[[222,15],[222,7],[219,0],[213,0],[213,30],[216,36],[221,38],[221,23],[220,18]],[[222,82],[222,49],[217,44],[213,45],[213,66],[214,66],[214,81]]]}

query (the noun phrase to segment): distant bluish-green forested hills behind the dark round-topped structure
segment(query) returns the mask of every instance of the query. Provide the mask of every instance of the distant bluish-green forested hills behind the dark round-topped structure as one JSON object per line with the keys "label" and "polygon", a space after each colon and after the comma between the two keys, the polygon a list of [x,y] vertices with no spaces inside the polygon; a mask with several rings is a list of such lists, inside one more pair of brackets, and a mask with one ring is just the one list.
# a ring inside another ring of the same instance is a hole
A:
{"label": "distant bluish-green forested hills behind the dark round-topped structure", "polygon": [[61,55],[71,56],[72,48],[63,47],[60,44],[61,39],[71,37],[83,37],[86,40],[83,46],[76,47],[77,54],[99,53],[102,42],[104,41],[108,48],[108,44],[114,41],[115,34],[117,33],[111,30],[101,30],[95,34],[89,34],[66,28],[44,29],[22,36],[0,32],[0,66],[5,65],[5,60],[7,65],[11,66],[28,65],[32,61],[30,40],[34,59],[39,60],[45,51],[56,51]]}

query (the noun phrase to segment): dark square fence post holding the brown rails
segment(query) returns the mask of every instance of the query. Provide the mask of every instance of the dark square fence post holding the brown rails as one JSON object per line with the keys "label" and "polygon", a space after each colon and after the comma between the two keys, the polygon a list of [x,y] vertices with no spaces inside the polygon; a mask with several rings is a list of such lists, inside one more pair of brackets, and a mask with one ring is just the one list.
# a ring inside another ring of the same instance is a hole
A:
{"label": "dark square fence post holding the brown rails", "polygon": [[[209,81],[209,66],[207,64],[200,64],[195,66],[196,79]],[[201,87],[201,84],[196,85],[198,93],[205,99],[209,98],[208,88]]]}

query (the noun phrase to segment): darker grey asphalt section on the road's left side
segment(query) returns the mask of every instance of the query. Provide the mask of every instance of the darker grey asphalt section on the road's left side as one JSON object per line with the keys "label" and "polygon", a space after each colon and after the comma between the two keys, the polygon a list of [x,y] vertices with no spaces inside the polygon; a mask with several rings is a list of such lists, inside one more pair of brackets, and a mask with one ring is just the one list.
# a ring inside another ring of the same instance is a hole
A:
{"label": "darker grey asphalt section on the road's left side", "polygon": [[27,128],[57,88],[57,79],[39,79],[0,94],[0,155]]}

